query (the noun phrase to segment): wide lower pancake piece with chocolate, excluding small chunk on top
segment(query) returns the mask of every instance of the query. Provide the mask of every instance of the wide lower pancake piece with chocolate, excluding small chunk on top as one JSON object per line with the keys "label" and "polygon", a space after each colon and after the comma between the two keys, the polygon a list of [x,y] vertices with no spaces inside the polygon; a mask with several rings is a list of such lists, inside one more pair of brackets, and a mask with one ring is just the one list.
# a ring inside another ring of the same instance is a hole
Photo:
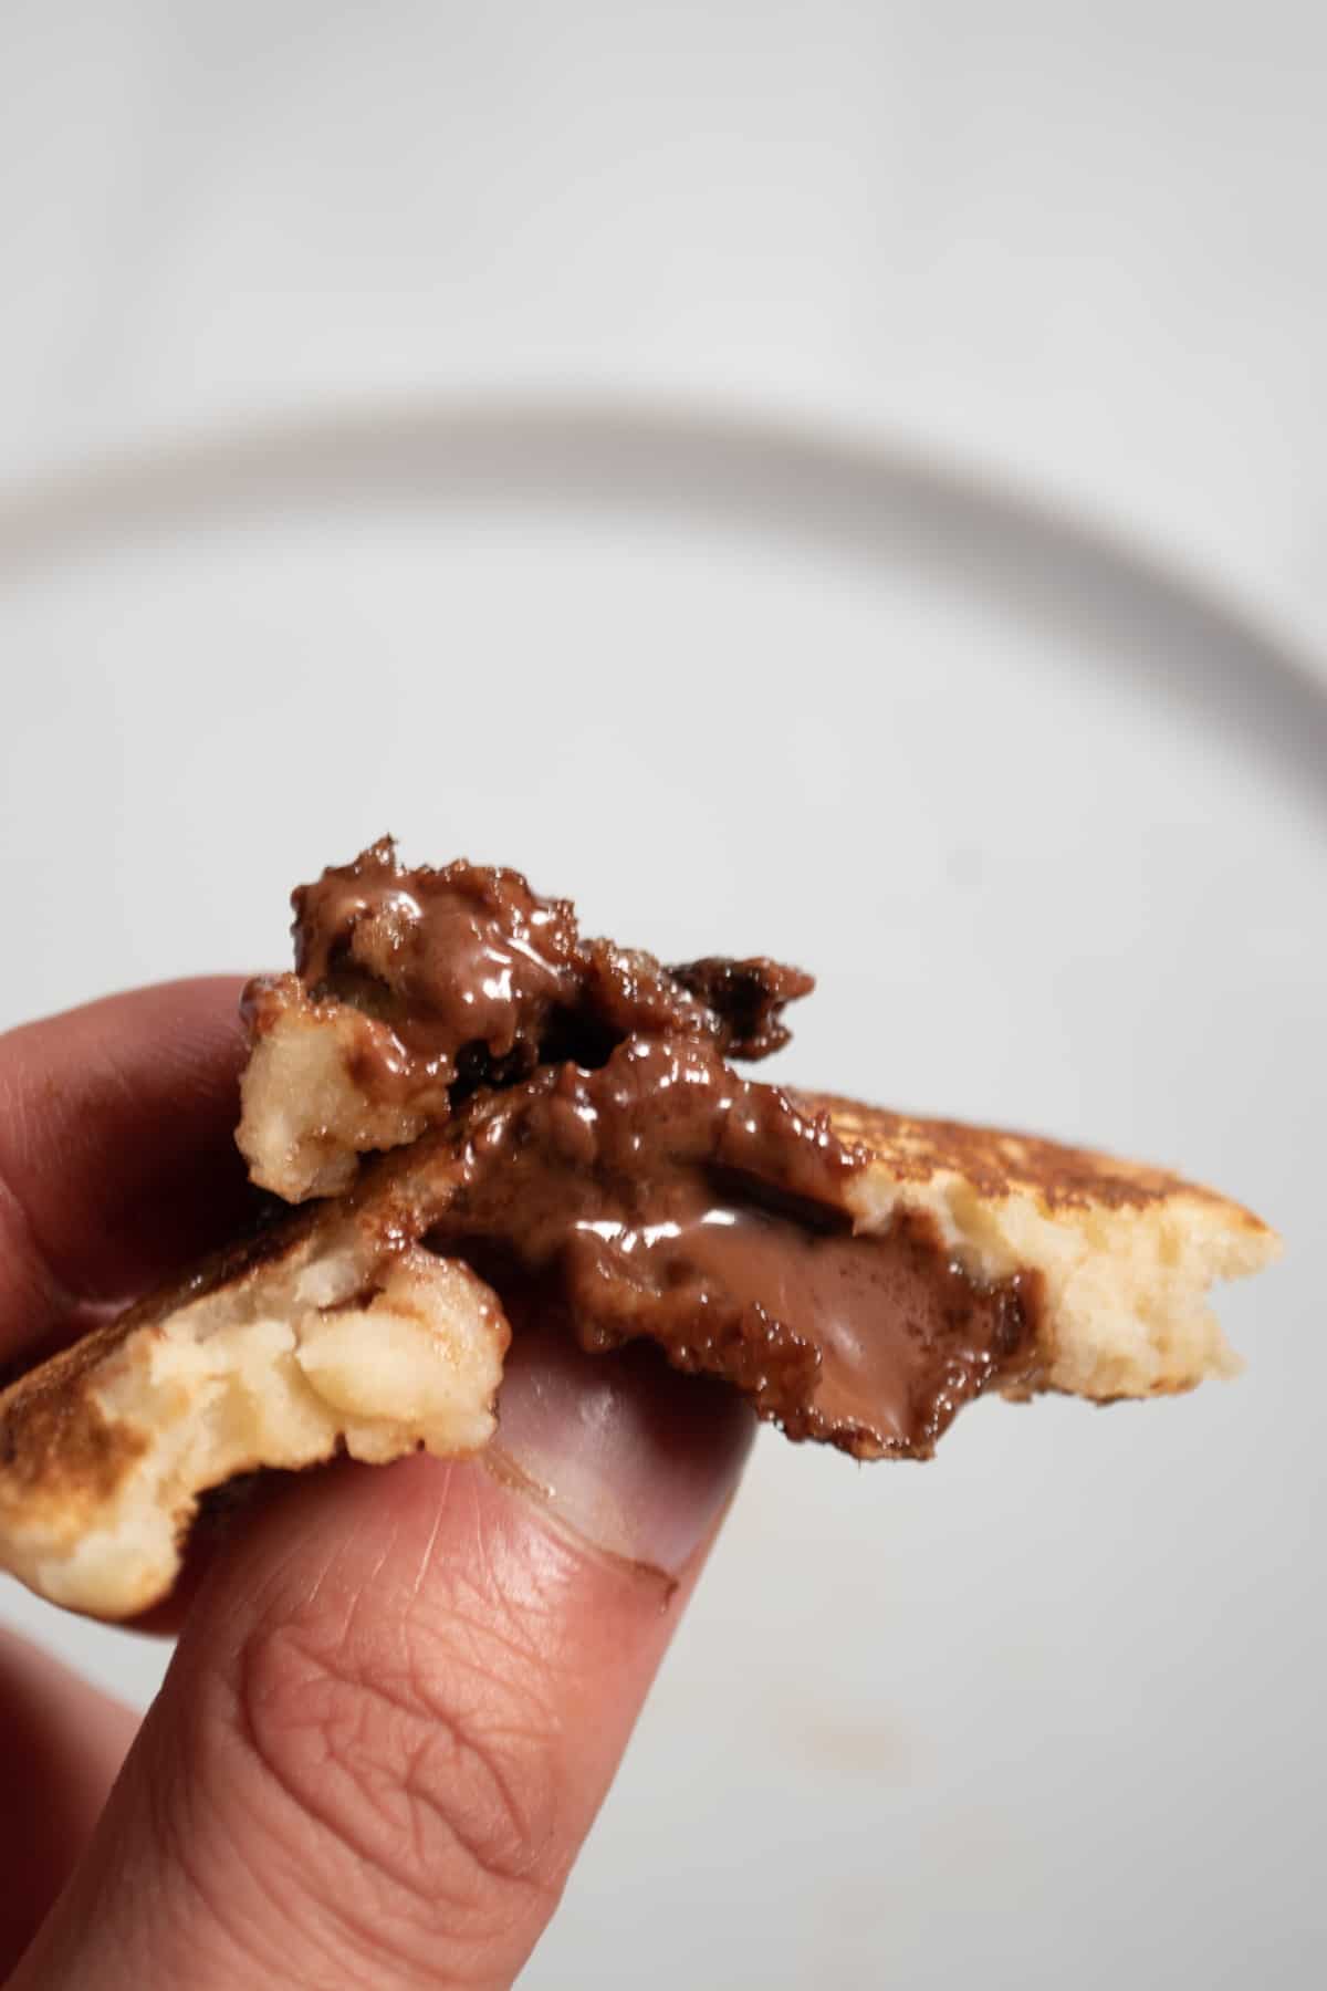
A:
{"label": "wide lower pancake piece with chocolate, excluding small chunk on top", "polygon": [[[659,1111],[674,1087],[684,1107]],[[1235,1366],[1206,1288],[1275,1244],[1237,1205],[1078,1149],[732,1087],[700,1045],[537,1073],[22,1378],[0,1398],[0,1561],[127,1617],[235,1473],[479,1449],[501,1292],[591,1350],[649,1336],[857,1457],[929,1455],[987,1390],[1150,1396]],[[623,1163],[649,1099],[647,1195]]]}

